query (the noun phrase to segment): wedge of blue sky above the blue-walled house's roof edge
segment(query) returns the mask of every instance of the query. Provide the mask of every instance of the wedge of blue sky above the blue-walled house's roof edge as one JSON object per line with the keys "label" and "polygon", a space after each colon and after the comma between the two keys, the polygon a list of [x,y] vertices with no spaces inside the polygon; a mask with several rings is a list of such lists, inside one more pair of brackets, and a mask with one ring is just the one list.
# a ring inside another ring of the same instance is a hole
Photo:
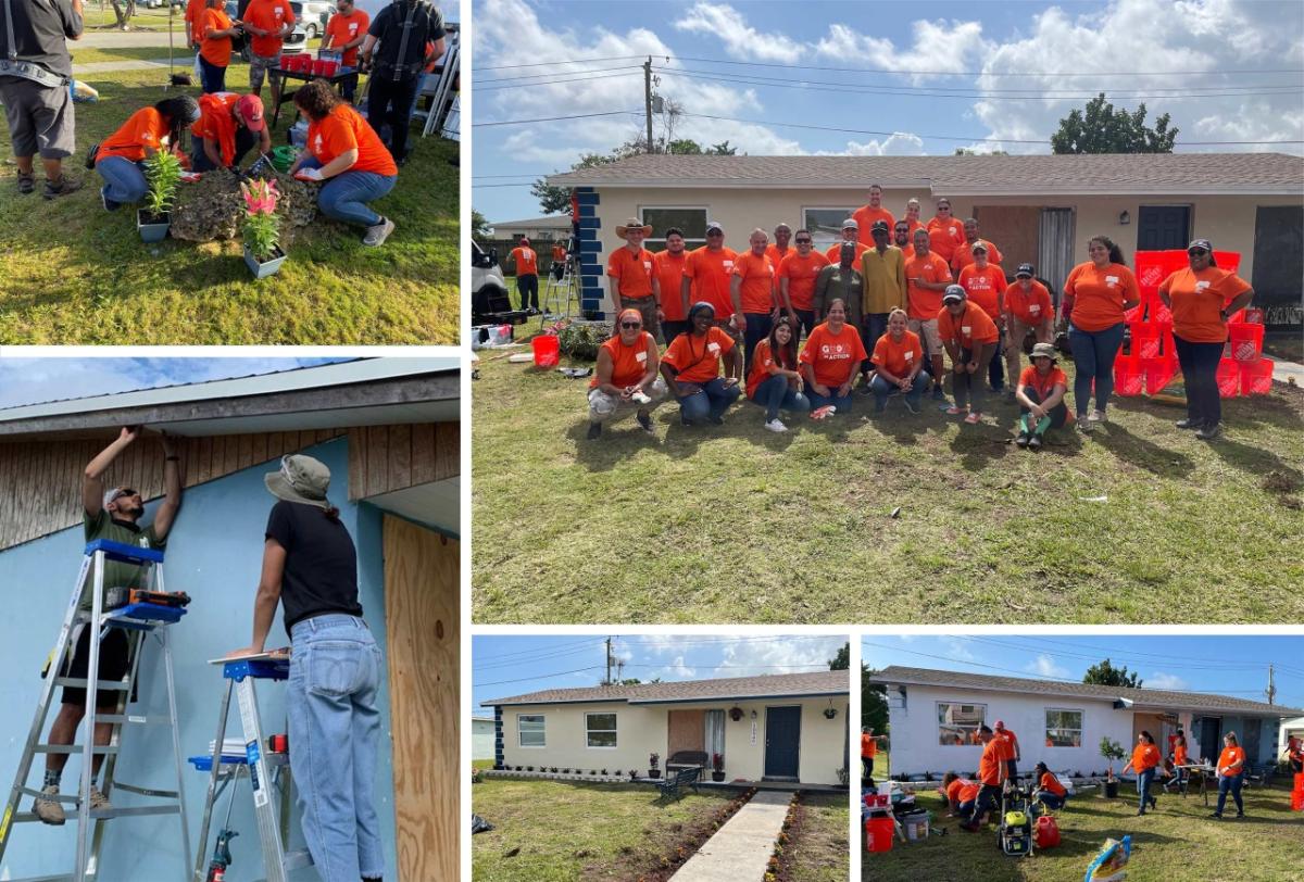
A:
{"label": "wedge of blue sky above the blue-walled house's roof edge", "polygon": [[270,374],[347,358],[0,358],[0,408]]}

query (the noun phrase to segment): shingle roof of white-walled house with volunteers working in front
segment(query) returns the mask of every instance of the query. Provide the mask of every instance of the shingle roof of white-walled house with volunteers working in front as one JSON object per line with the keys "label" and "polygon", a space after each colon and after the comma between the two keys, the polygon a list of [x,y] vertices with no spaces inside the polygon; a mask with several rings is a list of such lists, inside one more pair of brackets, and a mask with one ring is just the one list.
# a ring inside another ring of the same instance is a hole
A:
{"label": "shingle roof of white-walled house with volunteers working in front", "polygon": [[1099,687],[1086,683],[1064,683],[1059,680],[1028,680],[1024,677],[991,676],[988,674],[964,674],[960,671],[934,671],[922,667],[900,667],[892,664],[870,677],[872,683],[913,684],[949,687],[953,689],[978,689],[988,692],[1018,692],[1039,696],[1069,696],[1076,698],[1101,698],[1116,701],[1125,698],[1145,707],[1170,707],[1175,710],[1222,710],[1243,714],[1265,714],[1269,717],[1294,717],[1301,711],[1296,707],[1269,705],[1261,701],[1245,701],[1228,696],[1214,696],[1198,692],[1174,692],[1168,689],[1124,689],[1121,687]]}

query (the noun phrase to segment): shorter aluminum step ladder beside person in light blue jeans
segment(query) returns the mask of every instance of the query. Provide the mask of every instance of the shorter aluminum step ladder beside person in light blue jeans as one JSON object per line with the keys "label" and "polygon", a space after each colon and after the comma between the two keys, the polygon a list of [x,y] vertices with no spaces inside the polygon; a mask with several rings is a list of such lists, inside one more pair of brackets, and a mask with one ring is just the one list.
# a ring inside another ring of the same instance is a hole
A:
{"label": "shorter aluminum step ladder beside person in light blue jeans", "polygon": [[[235,661],[219,659],[222,676],[227,688],[222,694],[222,710],[218,714],[218,735],[213,740],[209,756],[192,757],[201,771],[209,773],[209,793],[203,800],[203,821],[200,825],[200,851],[194,861],[193,882],[205,882],[205,853],[209,843],[209,827],[213,821],[213,805],[223,788],[239,783],[248,774],[253,790],[253,809],[258,823],[258,838],[262,842],[262,864],[266,875],[261,882],[287,882],[289,873],[304,866],[312,866],[313,859],[306,848],[286,851],[289,839],[289,754],[274,753],[263,736],[262,719],[258,715],[257,680],[284,680],[289,676],[289,659],[262,655]],[[231,711],[231,693],[236,694],[240,707],[240,723],[244,731],[244,754],[223,753],[227,735],[227,717]],[[273,771],[275,770],[275,771]],[[232,790],[232,799],[235,791]],[[230,817],[230,806],[227,816]],[[278,817],[279,816],[279,817]]]}

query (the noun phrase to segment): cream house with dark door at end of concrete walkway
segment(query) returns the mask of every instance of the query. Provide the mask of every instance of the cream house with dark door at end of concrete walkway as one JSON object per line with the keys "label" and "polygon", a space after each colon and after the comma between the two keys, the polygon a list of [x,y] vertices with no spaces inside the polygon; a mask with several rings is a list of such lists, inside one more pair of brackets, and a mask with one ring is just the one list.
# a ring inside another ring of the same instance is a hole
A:
{"label": "cream house with dark door at end of concrete walkway", "polygon": [[848,671],[822,671],[545,689],[481,705],[494,709],[497,769],[643,775],[652,753],[662,769],[692,754],[709,769],[719,753],[729,782],[838,786],[848,767],[849,684]]}

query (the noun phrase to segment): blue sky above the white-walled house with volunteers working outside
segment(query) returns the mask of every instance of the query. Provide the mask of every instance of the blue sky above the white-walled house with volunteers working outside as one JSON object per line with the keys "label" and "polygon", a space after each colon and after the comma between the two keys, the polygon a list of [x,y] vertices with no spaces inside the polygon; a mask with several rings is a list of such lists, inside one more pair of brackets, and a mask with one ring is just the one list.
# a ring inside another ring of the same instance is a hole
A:
{"label": "blue sky above the white-walled house with volunteers working outside", "polygon": [[1086,668],[1108,658],[1154,689],[1215,692],[1266,701],[1267,666],[1275,663],[1277,704],[1304,707],[1304,637],[1228,636],[866,636],[862,661],[995,676],[1081,683]]}

